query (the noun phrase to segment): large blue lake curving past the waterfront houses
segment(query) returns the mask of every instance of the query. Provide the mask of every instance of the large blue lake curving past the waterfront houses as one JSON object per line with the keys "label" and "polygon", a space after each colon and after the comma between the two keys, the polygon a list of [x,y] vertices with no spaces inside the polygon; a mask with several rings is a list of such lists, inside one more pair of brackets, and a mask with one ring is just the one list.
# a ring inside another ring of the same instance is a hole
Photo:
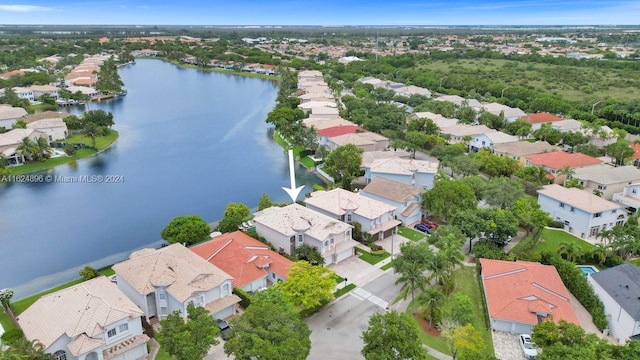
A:
{"label": "large blue lake curving past the waterfront houses", "polygon": [[[160,60],[138,60],[120,75],[126,97],[90,104],[114,114],[119,140],[48,173],[116,175],[123,183],[0,186],[0,288],[13,288],[15,299],[77,278],[86,264],[159,246],[175,216],[212,222],[228,203],[255,207],[263,193],[290,201],[281,189],[290,185],[287,155],[264,122],[276,83]],[[303,168],[296,176],[303,193],[320,183]]]}

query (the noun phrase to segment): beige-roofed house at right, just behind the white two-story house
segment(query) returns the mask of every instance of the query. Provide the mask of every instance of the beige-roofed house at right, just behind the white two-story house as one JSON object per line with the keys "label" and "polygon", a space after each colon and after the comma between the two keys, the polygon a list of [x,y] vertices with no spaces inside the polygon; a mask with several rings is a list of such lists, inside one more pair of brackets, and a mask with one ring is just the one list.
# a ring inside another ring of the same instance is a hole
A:
{"label": "beige-roofed house at right, just behind the white two-story house", "polygon": [[603,199],[611,200],[614,193],[622,192],[627,185],[640,183],[640,170],[631,165],[599,164],[575,169],[570,177],[578,179],[585,191],[599,193]]}

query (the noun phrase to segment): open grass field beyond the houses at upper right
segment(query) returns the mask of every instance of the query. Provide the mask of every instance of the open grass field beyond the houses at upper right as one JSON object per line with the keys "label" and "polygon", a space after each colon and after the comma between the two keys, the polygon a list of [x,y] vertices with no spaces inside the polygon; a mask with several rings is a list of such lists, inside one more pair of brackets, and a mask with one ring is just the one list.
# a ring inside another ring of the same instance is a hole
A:
{"label": "open grass field beyond the houses at upper right", "polygon": [[555,93],[567,100],[581,100],[585,95],[623,99],[637,98],[640,95],[640,73],[632,70],[524,63],[504,59],[439,60],[421,67],[452,75],[473,74],[478,78],[502,81],[508,86],[523,86],[541,93]]}

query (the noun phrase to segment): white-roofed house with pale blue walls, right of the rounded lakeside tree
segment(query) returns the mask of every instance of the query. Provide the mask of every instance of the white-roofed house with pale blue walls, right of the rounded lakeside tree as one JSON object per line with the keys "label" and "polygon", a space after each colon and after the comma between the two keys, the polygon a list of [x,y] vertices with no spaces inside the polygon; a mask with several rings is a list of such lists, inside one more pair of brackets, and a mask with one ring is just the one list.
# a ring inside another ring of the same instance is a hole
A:
{"label": "white-roofed house with pale blue walls, right of the rounded lakeside tree", "polygon": [[376,177],[383,177],[405,185],[429,190],[433,188],[433,180],[438,173],[438,162],[388,158],[374,160],[365,168],[364,178],[370,183]]}

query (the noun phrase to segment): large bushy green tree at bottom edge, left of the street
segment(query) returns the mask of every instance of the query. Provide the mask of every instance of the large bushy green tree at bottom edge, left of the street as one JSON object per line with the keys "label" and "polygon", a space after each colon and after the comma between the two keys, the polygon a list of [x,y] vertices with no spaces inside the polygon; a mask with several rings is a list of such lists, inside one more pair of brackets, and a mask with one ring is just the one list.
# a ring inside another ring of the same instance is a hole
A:
{"label": "large bushy green tree at bottom edge, left of the street", "polygon": [[309,335],[297,309],[272,286],[256,293],[244,314],[231,320],[224,352],[236,359],[304,360],[311,350]]}

